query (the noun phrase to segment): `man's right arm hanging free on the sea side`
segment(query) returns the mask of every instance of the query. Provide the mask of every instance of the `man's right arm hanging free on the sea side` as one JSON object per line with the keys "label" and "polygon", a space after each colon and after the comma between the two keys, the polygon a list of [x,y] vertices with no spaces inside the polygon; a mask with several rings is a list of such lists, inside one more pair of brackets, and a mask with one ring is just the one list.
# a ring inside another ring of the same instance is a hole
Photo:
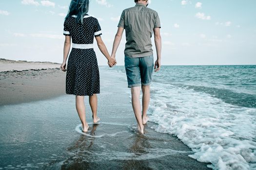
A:
{"label": "man's right arm hanging free on the sea side", "polygon": [[161,50],[162,50],[162,38],[160,35],[160,28],[154,28],[154,37],[157,50],[157,61],[155,63],[155,72],[160,70],[161,67]]}

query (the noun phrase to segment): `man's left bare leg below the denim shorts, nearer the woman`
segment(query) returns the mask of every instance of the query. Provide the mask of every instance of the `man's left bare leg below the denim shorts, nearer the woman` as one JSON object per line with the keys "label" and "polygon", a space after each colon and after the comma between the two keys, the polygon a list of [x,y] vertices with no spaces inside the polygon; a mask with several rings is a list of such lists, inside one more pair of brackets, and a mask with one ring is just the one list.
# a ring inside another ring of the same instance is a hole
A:
{"label": "man's left bare leg below the denim shorts, nearer the woman", "polygon": [[140,102],[139,102],[140,87],[139,86],[132,87],[131,93],[132,93],[133,111],[138,123],[138,132],[141,134],[144,134],[144,126],[142,124],[141,108],[140,108]]}

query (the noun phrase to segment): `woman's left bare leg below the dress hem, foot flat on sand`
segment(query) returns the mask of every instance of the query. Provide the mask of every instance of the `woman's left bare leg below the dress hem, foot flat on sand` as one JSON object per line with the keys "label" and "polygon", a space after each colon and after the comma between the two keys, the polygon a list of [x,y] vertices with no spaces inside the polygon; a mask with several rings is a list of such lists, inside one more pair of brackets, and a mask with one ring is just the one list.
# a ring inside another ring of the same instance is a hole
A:
{"label": "woman's left bare leg below the dress hem, foot flat on sand", "polygon": [[82,131],[87,132],[89,125],[87,124],[85,117],[84,96],[76,96],[76,108],[82,123]]}

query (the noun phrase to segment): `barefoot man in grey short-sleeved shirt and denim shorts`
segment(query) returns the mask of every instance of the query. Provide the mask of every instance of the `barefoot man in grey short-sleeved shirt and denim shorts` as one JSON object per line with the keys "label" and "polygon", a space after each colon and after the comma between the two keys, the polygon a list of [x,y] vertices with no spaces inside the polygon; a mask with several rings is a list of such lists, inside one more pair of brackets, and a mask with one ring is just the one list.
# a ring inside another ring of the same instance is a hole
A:
{"label": "barefoot man in grey short-sleeved shirt and denim shorts", "polygon": [[[148,121],[147,110],[150,100],[150,84],[154,67],[151,37],[154,32],[157,50],[155,71],[161,66],[161,36],[158,13],[148,6],[148,0],[134,0],[135,7],[123,10],[118,23],[111,57],[116,58],[116,52],[125,29],[125,70],[128,87],[131,88],[132,105],[138,123],[138,132],[144,134],[144,126]],[[140,85],[142,89],[142,116],[140,108]]]}

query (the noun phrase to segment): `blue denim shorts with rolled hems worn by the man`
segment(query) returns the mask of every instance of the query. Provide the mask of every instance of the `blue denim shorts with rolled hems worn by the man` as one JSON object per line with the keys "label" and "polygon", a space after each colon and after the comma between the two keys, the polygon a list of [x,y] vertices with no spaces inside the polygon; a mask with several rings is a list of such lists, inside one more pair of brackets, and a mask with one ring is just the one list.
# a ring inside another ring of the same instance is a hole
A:
{"label": "blue denim shorts with rolled hems worn by the man", "polygon": [[138,58],[125,56],[124,66],[129,88],[151,84],[154,67],[153,55]]}

